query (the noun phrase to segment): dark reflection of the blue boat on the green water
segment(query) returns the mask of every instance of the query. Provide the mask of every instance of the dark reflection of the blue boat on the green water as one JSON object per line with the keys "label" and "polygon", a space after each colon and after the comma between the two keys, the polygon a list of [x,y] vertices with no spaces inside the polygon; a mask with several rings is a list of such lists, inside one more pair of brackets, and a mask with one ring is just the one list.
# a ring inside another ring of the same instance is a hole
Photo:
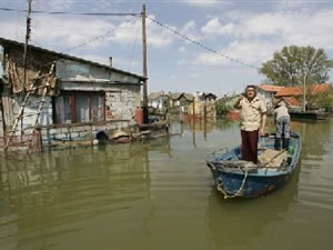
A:
{"label": "dark reflection of the blue boat on the green water", "polygon": [[228,249],[273,249],[273,246],[261,246],[271,240],[265,234],[270,234],[268,232],[278,223],[283,223],[285,214],[297,202],[299,170],[284,189],[261,199],[230,201],[212,191],[206,217],[215,249],[225,246]]}

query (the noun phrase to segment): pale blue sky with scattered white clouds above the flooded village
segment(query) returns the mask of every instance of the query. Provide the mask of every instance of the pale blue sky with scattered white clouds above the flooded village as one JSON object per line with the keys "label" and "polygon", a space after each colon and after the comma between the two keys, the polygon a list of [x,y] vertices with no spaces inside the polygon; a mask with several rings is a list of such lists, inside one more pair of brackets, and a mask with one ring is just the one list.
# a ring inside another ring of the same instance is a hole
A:
{"label": "pale blue sky with scattered white clouds above the flooded village", "polygon": [[[333,59],[333,0],[32,0],[32,10],[140,13],[143,3],[149,92],[240,92],[263,82],[258,69],[285,46],[323,48]],[[27,10],[28,1],[1,8]],[[0,10],[0,37],[24,42],[26,18]],[[141,28],[140,16],[33,13],[30,43],[105,64],[112,57],[114,68],[142,76]]]}

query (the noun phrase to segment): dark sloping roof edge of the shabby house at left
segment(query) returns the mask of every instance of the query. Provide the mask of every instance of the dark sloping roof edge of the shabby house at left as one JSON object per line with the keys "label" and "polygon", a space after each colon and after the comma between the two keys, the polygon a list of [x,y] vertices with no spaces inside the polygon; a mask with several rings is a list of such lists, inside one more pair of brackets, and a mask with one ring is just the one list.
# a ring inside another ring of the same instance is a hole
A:
{"label": "dark sloping roof edge of the shabby house at left", "polygon": [[[11,46],[17,46],[17,47],[22,47],[22,48],[24,47],[24,44],[22,42],[9,40],[9,39],[6,39],[6,38],[0,38],[0,44],[3,48],[11,47]],[[142,76],[139,76],[139,74],[135,74],[135,73],[131,73],[131,72],[127,72],[127,71],[123,71],[123,70],[120,70],[120,69],[115,69],[113,67],[101,64],[99,62],[90,61],[90,60],[87,60],[87,59],[83,59],[83,58],[77,58],[77,57],[73,57],[73,56],[70,56],[70,54],[59,53],[59,52],[56,52],[56,51],[52,51],[52,50],[47,50],[47,49],[43,49],[41,47],[31,46],[31,44],[29,44],[28,48],[30,50],[36,50],[36,51],[39,51],[39,52],[42,52],[42,53],[48,53],[48,54],[54,56],[54,57],[57,57],[59,59],[64,58],[64,59],[69,59],[69,60],[80,61],[80,62],[83,62],[83,63],[89,63],[89,64],[93,64],[93,66],[97,66],[97,67],[100,67],[100,68],[104,68],[104,69],[108,69],[110,71],[120,72],[120,73],[123,73],[123,74],[137,77],[137,78],[139,78],[141,80],[145,79]]]}

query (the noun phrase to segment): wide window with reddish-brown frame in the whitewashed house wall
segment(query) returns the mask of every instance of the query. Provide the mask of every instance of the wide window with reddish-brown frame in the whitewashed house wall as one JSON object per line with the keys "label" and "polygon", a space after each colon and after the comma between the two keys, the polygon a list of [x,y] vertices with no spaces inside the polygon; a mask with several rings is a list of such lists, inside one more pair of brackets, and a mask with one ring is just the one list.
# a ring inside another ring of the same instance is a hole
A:
{"label": "wide window with reddish-brown frame in the whitewashed house wall", "polygon": [[63,93],[56,98],[56,123],[85,123],[104,121],[103,93]]}

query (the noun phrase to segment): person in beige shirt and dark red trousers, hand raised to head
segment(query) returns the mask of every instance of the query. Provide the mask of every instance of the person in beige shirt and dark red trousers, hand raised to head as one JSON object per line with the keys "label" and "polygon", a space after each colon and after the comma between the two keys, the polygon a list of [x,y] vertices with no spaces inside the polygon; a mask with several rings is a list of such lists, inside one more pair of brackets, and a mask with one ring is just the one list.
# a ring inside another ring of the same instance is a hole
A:
{"label": "person in beige shirt and dark red trousers, hand raised to head", "polygon": [[266,107],[256,96],[255,86],[248,86],[245,93],[241,94],[234,108],[241,112],[242,158],[258,163],[259,134],[265,134]]}

